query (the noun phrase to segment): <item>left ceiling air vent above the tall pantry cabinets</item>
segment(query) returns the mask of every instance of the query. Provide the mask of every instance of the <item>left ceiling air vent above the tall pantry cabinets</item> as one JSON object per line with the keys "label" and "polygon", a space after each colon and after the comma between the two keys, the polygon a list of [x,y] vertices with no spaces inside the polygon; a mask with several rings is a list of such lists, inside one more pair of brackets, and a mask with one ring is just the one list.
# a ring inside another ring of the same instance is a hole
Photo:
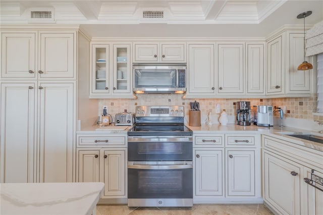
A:
{"label": "left ceiling air vent above the tall pantry cabinets", "polygon": [[29,8],[28,21],[32,23],[54,22],[53,8]]}

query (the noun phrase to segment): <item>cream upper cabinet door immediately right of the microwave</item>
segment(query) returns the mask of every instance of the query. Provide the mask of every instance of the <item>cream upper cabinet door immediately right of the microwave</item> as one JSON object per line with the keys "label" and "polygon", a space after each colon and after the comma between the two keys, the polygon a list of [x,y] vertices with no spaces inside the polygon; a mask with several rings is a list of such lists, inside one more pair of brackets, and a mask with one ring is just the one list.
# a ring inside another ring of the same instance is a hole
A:
{"label": "cream upper cabinet door immediately right of the microwave", "polygon": [[214,44],[188,45],[188,95],[214,96]]}

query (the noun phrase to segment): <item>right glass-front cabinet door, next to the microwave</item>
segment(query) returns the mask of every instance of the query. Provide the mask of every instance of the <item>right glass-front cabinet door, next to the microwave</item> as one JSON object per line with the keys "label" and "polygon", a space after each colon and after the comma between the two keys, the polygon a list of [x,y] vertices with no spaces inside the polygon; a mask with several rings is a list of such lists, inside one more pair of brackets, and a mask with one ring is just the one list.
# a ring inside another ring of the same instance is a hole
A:
{"label": "right glass-front cabinet door, next to the microwave", "polygon": [[114,44],[114,92],[129,93],[130,82],[130,44]]}

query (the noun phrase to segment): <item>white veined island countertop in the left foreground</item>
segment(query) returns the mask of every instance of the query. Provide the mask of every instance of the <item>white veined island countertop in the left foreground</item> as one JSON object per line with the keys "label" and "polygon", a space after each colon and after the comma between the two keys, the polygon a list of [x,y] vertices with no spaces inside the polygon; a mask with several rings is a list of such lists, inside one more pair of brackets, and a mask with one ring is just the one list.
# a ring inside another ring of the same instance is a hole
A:
{"label": "white veined island countertop in the left foreground", "polygon": [[104,184],[2,183],[0,214],[91,214]]}

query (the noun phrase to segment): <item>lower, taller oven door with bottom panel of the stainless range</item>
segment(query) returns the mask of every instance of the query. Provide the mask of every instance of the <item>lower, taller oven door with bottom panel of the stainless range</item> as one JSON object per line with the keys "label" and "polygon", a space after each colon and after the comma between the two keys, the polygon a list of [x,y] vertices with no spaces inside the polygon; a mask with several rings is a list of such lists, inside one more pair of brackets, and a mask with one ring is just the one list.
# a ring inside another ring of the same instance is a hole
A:
{"label": "lower, taller oven door with bottom panel of the stainless range", "polygon": [[128,162],[128,206],[192,206],[193,162]]}

